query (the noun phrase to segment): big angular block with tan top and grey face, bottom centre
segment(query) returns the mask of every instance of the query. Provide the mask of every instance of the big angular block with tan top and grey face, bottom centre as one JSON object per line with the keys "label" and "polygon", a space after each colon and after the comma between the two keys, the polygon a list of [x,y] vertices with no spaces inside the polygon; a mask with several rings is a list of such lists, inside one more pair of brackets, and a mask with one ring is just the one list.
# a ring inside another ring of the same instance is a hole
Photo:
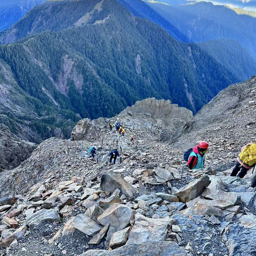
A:
{"label": "big angular block with tan top and grey face, bottom centre", "polygon": [[98,216],[98,222],[102,225],[110,224],[116,231],[122,230],[130,223],[133,210],[122,204],[114,204]]}

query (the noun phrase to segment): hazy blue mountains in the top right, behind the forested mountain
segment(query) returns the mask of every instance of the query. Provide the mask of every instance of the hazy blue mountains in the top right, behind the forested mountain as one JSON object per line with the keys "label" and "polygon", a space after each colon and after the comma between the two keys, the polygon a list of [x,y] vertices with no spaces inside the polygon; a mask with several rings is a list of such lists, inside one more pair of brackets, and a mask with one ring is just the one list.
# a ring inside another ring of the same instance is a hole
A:
{"label": "hazy blue mountains in the top right, behind the forested mountain", "polygon": [[240,15],[244,14],[242,10],[231,10],[211,2],[169,6],[157,1],[118,1],[134,15],[152,20],[165,28],[176,40],[205,42],[234,39],[256,59],[256,18]]}

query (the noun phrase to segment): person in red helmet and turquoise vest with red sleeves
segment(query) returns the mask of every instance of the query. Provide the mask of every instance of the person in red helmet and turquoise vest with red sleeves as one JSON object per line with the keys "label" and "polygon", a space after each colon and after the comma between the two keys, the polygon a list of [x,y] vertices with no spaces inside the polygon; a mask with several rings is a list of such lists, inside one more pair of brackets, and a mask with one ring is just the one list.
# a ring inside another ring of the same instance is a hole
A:
{"label": "person in red helmet and turquoise vest with red sleeves", "polygon": [[209,144],[206,141],[201,141],[193,149],[191,148],[190,150],[188,150],[188,152],[189,151],[191,152],[190,155],[188,156],[188,163],[187,163],[190,170],[204,168],[204,157],[208,148],[209,148]]}

